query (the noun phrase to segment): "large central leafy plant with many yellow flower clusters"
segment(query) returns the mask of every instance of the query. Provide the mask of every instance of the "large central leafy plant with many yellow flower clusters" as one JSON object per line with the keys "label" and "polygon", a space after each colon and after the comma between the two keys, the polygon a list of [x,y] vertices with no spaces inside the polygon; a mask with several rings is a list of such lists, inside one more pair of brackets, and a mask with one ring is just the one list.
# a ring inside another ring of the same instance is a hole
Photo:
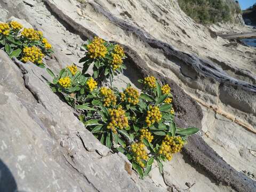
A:
{"label": "large central leafy plant with many yellow flower clusters", "polygon": [[[154,76],[139,79],[141,92],[128,84],[122,91],[104,85],[106,79],[122,73],[126,58],[120,45],[105,42],[99,37],[83,45],[83,71],[67,66],[53,77],[49,85],[79,114],[89,131],[103,145],[121,152],[131,161],[140,178],[146,177],[154,161],[163,171],[163,161],[170,161],[182,150],[187,137],[196,127],[179,128],[174,122],[173,96],[168,84]],[[93,75],[86,74],[93,65]]]}

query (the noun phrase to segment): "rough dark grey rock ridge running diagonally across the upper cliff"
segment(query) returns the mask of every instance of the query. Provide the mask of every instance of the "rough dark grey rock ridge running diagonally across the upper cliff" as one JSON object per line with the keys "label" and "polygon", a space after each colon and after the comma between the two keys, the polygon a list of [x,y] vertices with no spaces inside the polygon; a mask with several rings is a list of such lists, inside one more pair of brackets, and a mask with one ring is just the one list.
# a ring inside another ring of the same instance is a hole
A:
{"label": "rough dark grey rock ridge running diagonally across the upper cliff", "polygon": [[180,61],[185,62],[191,68],[195,69],[197,73],[202,74],[205,77],[212,77],[221,83],[240,86],[247,91],[256,92],[256,85],[252,85],[247,82],[239,81],[236,78],[230,77],[221,68],[216,67],[213,62],[200,59],[195,55],[191,55],[189,53],[175,50],[174,47],[172,47],[170,44],[159,41],[158,39],[153,38],[146,31],[143,31],[135,26],[130,25],[124,20],[115,17],[115,15],[103,9],[100,5],[93,2],[89,2],[89,4],[91,4],[94,9],[97,10],[99,13],[105,15],[105,17],[107,17],[111,22],[115,23],[115,25],[118,25],[129,33],[137,35],[140,39],[142,39],[151,47],[163,50],[163,52],[167,56],[174,57],[179,59]]}

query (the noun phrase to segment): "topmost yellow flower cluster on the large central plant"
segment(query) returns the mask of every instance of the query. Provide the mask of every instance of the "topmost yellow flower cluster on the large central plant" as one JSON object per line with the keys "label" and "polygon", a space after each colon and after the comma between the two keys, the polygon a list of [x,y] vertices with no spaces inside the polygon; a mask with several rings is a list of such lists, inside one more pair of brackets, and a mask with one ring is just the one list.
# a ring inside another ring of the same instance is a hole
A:
{"label": "topmost yellow flower cluster on the large central plant", "polygon": [[99,37],[94,37],[93,41],[87,45],[87,50],[90,58],[105,58],[107,47],[103,44],[105,41]]}

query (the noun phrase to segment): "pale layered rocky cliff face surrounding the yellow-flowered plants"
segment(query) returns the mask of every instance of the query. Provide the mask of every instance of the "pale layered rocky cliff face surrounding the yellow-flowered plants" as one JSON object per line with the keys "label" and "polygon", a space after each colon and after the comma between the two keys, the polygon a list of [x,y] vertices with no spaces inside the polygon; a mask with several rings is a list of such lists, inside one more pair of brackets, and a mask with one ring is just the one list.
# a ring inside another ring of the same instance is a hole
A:
{"label": "pale layered rocky cliff face surrounding the yellow-flowered plants", "polygon": [[13,174],[10,188],[1,185],[1,191],[255,190],[255,49],[196,24],[177,1],[2,0],[0,5],[2,21],[14,16],[44,32],[55,51],[46,65],[54,71],[77,63],[87,38],[123,44],[128,69],[116,77],[116,86],[138,86],[138,78],[154,74],[172,85],[178,125],[201,128],[182,154],[164,165],[164,175],[153,169],[139,180],[127,159],[102,146],[51,92],[43,69],[0,52],[5,164],[0,165]]}

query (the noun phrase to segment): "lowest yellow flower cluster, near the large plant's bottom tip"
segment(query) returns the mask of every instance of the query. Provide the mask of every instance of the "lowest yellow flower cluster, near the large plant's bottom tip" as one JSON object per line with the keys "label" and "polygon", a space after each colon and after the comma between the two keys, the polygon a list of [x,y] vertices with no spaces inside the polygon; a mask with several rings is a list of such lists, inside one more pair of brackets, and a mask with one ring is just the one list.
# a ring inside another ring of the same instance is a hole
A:
{"label": "lowest yellow flower cluster, near the large plant's bottom tip", "polygon": [[147,161],[148,159],[148,154],[147,154],[147,151],[145,150],[144,143],[142,142],[133,143],[131,145],[131,148],[137,163],[141,167],[145,167],[145,164],[141,161],[142,159],[144,159],[145,161]]}

